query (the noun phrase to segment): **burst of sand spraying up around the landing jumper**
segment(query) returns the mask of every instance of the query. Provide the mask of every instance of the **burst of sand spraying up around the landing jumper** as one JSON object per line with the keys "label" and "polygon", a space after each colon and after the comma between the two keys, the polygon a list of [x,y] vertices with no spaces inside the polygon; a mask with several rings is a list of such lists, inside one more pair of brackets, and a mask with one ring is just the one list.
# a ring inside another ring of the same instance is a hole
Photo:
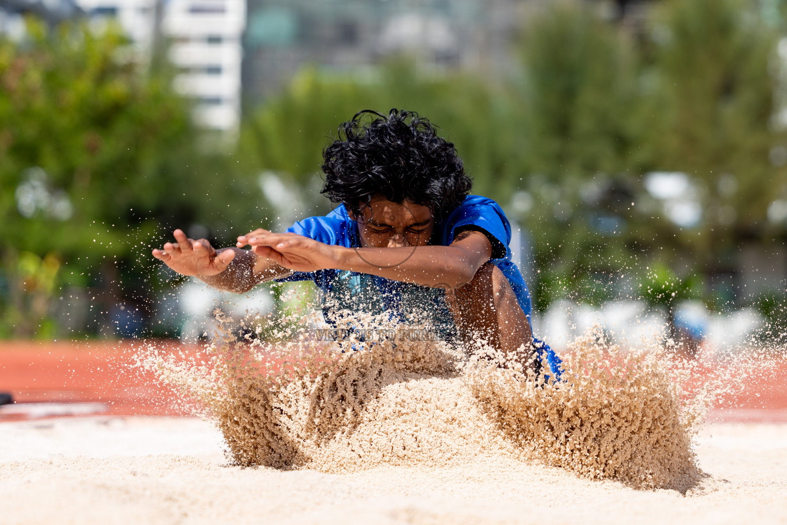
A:
{"label": "burst of sand spraying up around the landing jumper", "polygon": [[549,368],[535,375],[482,343],[398,338],[408,327],[345,313],[337,342],[308,330],[236,338],[219,316],[198,356],[151,346],[141,362],[216,422],[237,464],[349,473],[495,456],[677,490],[700,476],[692,438],[708,408],[765,362],[683,359],[656,340],[624,350],[595,327],[567,347],[555,382]]}

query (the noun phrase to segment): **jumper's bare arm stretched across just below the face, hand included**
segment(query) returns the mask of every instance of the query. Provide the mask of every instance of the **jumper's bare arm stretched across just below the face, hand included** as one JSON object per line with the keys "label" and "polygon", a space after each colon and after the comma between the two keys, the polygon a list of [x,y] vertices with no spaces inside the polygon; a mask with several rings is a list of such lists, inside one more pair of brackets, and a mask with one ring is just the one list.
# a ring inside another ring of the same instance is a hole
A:
{"label": "jumper's bare arm stretched across just below the face, hand included", "polygon": [[246,244],[257,255],[298,272],[334,268],[452,290],[470,283],[492,255],[490,240],[478,231],[461,232],[451,246],[345,248],[291,233],[238,238],[238,246]]}

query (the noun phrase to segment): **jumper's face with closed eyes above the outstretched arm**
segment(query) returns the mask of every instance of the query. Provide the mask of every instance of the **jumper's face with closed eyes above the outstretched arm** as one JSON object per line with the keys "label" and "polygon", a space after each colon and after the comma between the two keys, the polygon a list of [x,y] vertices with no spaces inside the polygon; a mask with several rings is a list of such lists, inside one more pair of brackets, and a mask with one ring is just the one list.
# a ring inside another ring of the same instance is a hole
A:
{"label": "jumper's face with closed eyes above the outstretched arm", "polygon": [[363,216],[350,213],[358,223],[363,248],[425,246],[434,230],[434,217],[427,206],[404,201],[401,204],[373,198]]}

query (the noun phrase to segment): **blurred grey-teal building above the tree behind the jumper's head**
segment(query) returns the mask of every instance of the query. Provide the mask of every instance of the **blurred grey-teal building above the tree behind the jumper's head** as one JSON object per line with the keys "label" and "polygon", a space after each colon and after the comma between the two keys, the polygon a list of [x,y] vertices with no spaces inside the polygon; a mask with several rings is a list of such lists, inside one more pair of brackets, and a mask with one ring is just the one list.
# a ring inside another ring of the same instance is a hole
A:
{"label": "blurred grey-teal building above the tree behind the jumper's head", "polygon": [[243,87],[252,101],[297,69],[342,73],[408,54],[420,68],[495,74],[538,0],[249,0]]}

